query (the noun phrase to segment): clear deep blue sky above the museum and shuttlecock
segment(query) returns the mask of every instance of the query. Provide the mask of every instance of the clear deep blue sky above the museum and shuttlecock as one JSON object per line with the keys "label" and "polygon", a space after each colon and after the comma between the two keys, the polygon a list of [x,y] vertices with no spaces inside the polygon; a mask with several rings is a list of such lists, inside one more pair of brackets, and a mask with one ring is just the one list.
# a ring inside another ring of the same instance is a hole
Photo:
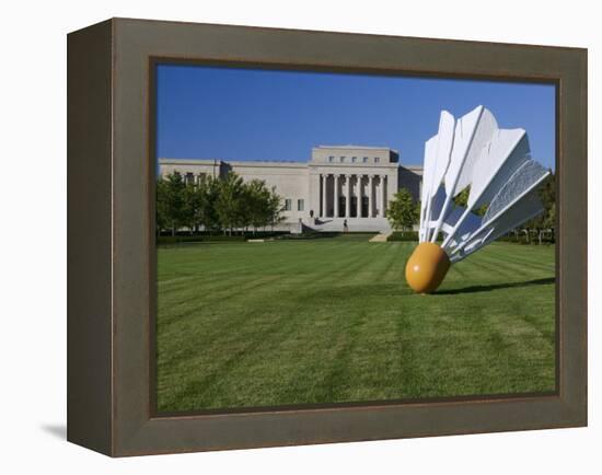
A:
{"label": "clear deep blue sky above the museum and shuttlecock", "polygon": [[159,65],[157,89],[159,157],[308,161],[319,144],[359,144],[421,164],[441,109],[483,104],[555,163],[554,85]]}

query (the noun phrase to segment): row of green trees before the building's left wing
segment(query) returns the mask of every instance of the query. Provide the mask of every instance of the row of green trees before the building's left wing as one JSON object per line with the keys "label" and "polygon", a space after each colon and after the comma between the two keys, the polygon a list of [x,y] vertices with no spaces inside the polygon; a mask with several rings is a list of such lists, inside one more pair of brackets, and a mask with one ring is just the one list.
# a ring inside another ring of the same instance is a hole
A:
{"label": "row of green trees before the building's left wing", "polygon": [[243,182],[234,172],[196,184],[175,172],[157,181],[157,232],[171,230],[175,235],[182,228],[190,233],[201,228],[230,234],[234,229],[256,232],[282,221],[281,202],[265,182]]}

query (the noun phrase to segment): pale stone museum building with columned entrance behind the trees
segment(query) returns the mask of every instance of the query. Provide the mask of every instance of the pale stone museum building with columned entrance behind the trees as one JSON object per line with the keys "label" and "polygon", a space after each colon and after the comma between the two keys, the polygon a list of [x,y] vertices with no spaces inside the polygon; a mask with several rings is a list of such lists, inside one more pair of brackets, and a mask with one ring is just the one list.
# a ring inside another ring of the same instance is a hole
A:
{"label": "pale stone museum building with columned entrance behind the trees", "polygon": [[159,174],[182,174],[187,183],[235,172],[262,179],[282,197],[282,228],[343,231],[390,230],[384,216],[402,187],[419,199],[421,166],[402,166],[400,153],[384,147],[320,146],[309,162],[159,159]]}

